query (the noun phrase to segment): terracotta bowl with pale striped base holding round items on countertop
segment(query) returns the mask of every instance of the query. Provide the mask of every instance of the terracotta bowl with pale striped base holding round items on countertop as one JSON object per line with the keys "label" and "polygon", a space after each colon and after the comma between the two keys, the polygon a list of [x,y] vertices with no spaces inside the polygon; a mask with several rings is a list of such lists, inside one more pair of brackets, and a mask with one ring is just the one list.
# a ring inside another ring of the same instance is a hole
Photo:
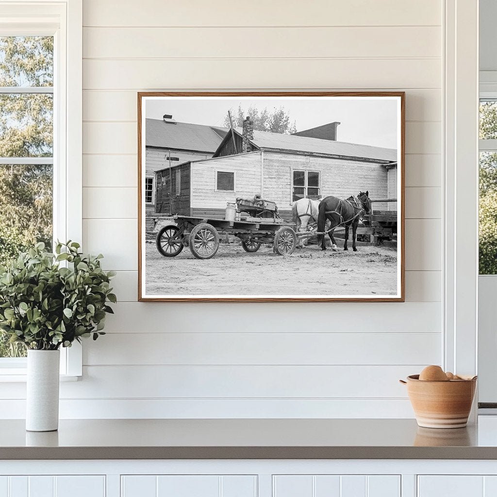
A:
{"label": "terracotta bowl with pale striped base holding round items on countertop", "polygon": [[468,423],[476,391],[476,376],[463,380],[422,381],[407,377],[407,393],[416,421],[425,428],[463,428]]}

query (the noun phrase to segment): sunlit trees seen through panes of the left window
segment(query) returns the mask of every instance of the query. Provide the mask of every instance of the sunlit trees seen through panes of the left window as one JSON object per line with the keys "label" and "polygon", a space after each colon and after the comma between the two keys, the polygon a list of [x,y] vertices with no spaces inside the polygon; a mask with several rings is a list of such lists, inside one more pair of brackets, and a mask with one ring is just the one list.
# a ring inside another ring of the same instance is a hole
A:
{"label": "sunlit trees seen through panes of the left window", "polygon": [[[52,86],[53,38],[0,37],[0,86]],[[0,157],[51,157],[50,93],[0,94]],[[37,242],[52,247],[52,166],[0,165],[0,264]],[[0,357],[18,356],[0,333]]]}

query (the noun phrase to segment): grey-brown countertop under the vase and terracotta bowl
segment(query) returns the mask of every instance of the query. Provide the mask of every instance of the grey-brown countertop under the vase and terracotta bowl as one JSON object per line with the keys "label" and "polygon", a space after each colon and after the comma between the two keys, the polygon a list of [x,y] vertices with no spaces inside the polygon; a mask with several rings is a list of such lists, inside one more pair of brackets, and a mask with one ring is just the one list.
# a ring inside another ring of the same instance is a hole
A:
{"label": "grey-brown countertop under the vase and terracotta bowl", "polygon": [[0,459],[497,459],[497,418],[466,428],[414,419],[65,419],[56,432],[0,422]]}

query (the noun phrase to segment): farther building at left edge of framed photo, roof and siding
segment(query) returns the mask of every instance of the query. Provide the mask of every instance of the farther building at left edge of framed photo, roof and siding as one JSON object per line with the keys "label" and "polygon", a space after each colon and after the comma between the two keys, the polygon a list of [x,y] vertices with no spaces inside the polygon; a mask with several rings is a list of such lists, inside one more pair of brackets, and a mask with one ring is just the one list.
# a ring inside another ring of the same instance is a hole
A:
{"label": "farther building at left edge of framed photo, roof and siding", "polygon": [[187,161],[211,158],[227,133],[226,128],[177,122],[172,115],[145,121],[145,185],[147,214],[155,208],[155,173]]}

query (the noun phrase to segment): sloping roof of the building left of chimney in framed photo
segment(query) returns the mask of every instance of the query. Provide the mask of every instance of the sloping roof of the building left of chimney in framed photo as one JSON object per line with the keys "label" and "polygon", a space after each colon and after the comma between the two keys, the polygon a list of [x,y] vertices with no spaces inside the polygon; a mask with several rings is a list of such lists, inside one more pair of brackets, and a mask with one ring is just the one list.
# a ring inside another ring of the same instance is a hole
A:
{"label": "sloping roof of the building left of chimney in framed photo", "polygon": [[228,130],[216,126],[190,123],[166,123],[163,119],[146,119],[145,145],[178,150],[214,153]]}

